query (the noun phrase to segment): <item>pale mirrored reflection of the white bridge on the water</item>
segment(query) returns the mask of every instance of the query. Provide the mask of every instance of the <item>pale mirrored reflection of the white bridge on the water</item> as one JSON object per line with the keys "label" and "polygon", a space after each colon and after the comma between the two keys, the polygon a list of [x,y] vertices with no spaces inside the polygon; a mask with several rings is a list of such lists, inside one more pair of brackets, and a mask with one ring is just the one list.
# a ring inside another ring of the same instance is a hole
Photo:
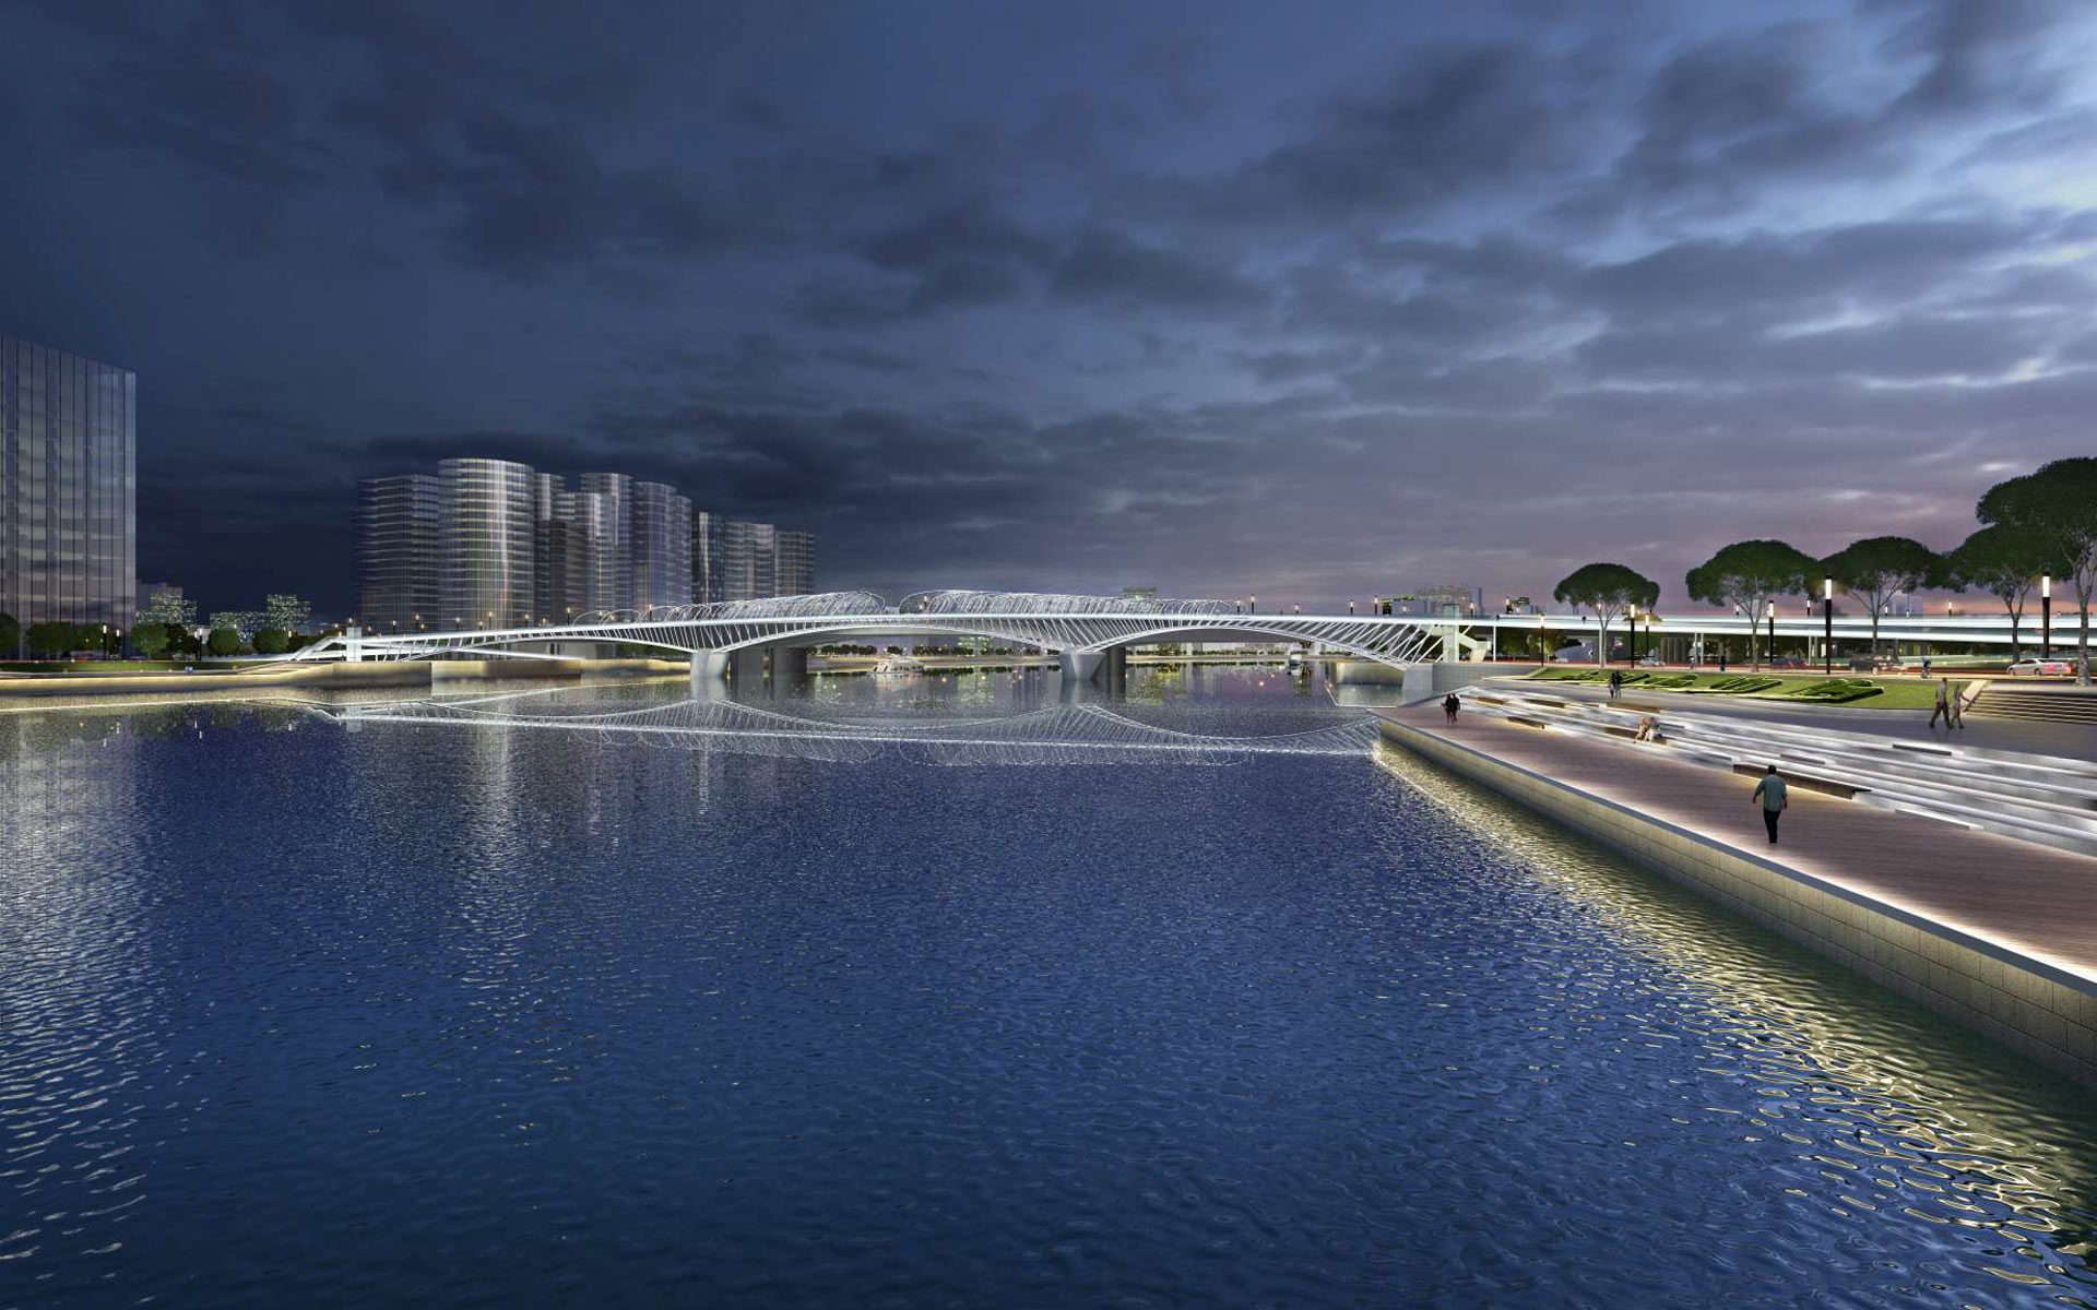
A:
{"label": "pale mirrored reflection of the white bridge on the water", "polygon": [[1101,704],[1055,704],[986,719],[851,721],[723,698],[593,711],[535,702],[539,694],[327,706],[348,725],[421,723],[596,734],[671,750],[763,755],[824,763],[879,759],[927,765],[1235,765],[1256,755],[1367,755],[1376,721],[1348,719],[1275,736],[1210,736],[1143,723]]}

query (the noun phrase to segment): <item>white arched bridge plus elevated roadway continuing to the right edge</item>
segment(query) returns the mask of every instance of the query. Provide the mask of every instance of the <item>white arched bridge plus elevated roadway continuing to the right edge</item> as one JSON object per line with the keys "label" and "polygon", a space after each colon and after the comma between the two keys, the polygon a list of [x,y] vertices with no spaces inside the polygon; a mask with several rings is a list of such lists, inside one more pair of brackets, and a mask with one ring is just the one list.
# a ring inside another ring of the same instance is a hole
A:
{"label": "white arched bridge plus elevated roadway continuing to the right edge", "polygon": [[[2026,614],[2013,625],[1996,610],[1965,614],[1887,614],[1879,618],[1879,641],[1952,641],[1977,646],[2038,646],[2040,625]],[[2072,648],[2076,614],[2053,616],[2053,650]],[[1648,616],[1648,633],[1676,637],[1749,637],[1776,633],[1808,637],[1835,635],[1864,641],[1868,618],[1835,616],[1816,608],[1787,606],[1774,616],[1749,618],[1703,610]],[[778,662],[805,667],[812,646],[858,643],[877,637],[986,637],[1015,648],[1055,654],[1065,677],[1093,679],[1130,646],[1164,641],[1290,641],[1325,654],[1374,660],[1395,669],[1434,662],[1485,660],[1501,631],[1554,631],[1594,635],[1594,616],[1579,614],[1256,614],[1235,602],[1212,599],[1122,599],[1101,595],[1044,595],[1015,591],[921,591],[891,606],[868,591],[824,595],[782,595],[776,599],[711,606],[661,606],[640,612],[583,614],[568,623],[510,629],[463,629],[445,633],[365,633],[350,629],[306,646],[285,660],[424,660],[445,656],[566,658],[564,648],[581,643],[644,646],[692,660],[692,677],[726,677],[730,669],[759,667],[765,652]],[[1625,623],[1610,625],[1621,635]]]}

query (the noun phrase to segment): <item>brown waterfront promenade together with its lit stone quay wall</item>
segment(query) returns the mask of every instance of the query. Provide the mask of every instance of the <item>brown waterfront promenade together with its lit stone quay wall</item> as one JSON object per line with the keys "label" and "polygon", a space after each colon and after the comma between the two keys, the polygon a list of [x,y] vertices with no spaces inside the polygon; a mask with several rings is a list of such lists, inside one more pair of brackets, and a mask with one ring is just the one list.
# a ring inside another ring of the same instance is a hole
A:
{"label": "brown waterfront promenade together with its lit stone quay wall", "polygon": [[1384,738],[1657,868],[1875,981],[2097,1086],[2097,859],[1439,704]]}

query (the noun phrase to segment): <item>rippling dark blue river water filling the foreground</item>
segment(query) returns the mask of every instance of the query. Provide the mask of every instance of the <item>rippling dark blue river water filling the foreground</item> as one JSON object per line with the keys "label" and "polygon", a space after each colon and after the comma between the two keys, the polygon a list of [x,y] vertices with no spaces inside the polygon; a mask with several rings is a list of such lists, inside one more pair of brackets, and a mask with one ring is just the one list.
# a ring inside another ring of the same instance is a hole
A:
{"label": "rippling dark blue river water filling the foreground", "polygon": [[1315,685],[684,696],[0,713],[0,1306],[2097,1302],[2082,1092]]}

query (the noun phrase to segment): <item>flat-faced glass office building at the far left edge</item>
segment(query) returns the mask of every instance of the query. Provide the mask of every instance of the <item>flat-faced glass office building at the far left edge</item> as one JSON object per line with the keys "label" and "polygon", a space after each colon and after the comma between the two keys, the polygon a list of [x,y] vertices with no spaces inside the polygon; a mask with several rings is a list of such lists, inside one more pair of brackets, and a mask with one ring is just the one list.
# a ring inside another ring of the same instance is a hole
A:
{"label": "flat-faced glass office building at the far left edge", "polygon": [[25,629],[138,612],[136,405],[128,369],[0,337],[0,612]]}

